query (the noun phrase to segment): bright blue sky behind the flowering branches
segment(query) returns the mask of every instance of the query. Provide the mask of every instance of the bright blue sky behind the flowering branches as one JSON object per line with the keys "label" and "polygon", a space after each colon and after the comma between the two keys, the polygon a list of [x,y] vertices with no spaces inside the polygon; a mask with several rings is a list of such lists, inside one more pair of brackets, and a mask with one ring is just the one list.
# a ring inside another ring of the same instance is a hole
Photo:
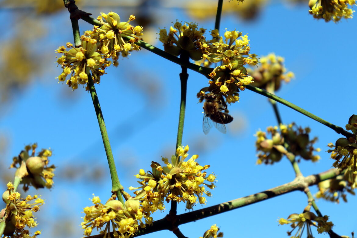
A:
{"label": "bright blue sky behind the flowering branches", "polygon": [[[196,21],[180,8],[156,7],[148,8],[149,12],[156,12],[153,26],[156,32],[159,27],[170,27],[176,19]],[[82,10],[92,12],[94,16],[101,11],[112,10],[122,20],[136,14],[119,7],[83,7]],[[6,12],[1,14],[7,16]],[[197,23],[208,30],[214,25],[213,20]],[[48,54],[52,54],[45,73],[16,95],[11,105],[3,107],[5,113],[0,118],[0,131],[8,138],[5,167],[24,145],[37,142],[40,148],[51,147],[51,163],[58,166],[55,186],[51,191],[29,191],[29,194],[42,194],[46,199],[46,204],[36,214],[40,224],[38,228],[42,229],[41,237],[80,237],[81,211],[90,206],[92,193],[100,196],[102,201],[110,196],[109,169],[89,93],[82,88],[72,92],[55,79],[61,70],[56,68],[53,52],[58,46],[73,41],[67,10],[63,9],[49,18],[46,25],[51,26],[47,28],[47,35],[32,46],[35,49],[44,47]],[[338,24],[326,23],[313,19],[307,6],[291,7],[277,2],[268,5],[254,22],[243,22],[232,15],[223,15],[221,20],[221,29],[248,33],[252,53],[263,56],[275,52],[285,57],[287,69],[293,71],[296,78],[283,85],[277,92],[278,96],[341,127],[352,114],[357,114],[354,99],[357,86],[356,26],[356,19],[341,20]],[[89,24],[80,22],[82,32],[90,29]],[[145,29],[143,37],[146,40]],[[147,42],[163,48],[155,36]],[[133,175],[139,169],[148,170],[151,161],[161,162],[161,156],[170,157],[175,152],[180,71],[180,66],[143,49],[133,52],[128,59],[120,59],[119,66],[108,69],[101,84],[96,86],[124,187],[135,186]],[[267,99],[249,90],[241,92],[240,102],[229,107],[235,120],[227,125],[227,134],[212,128],[206,136],[202,132],[202,104],[197,103],[196,93],[207,84],[207,79],[193,71],[188,73],[183,145],[188,144],[188,153],[200,155],[198,162],[210,164],[208,171],[217,174],[217,188],[213,197],[207,198],[207,206],[292,181],[295,174],[286,159],[273,166],[255,164],[253,135],[258,129],[265,130],[277,123]],[[140,85],[149,85],[150,88]],[[319,153],[322,159],[314,164],[302,161],[302,173],[307,176],[330,169],[332,160],[325,152],[326,145],[340,136],[290,108],[278,107],[283,122],[294,121],[303,127],[310,126],[311,136],[319,137],[317,147],[322,149]],[[237,129],[233,128],[234,125]],[[5,189],[5,184],[2,187]],[[315,187],[311,190],[316,192]],[[356,212],[353,204],[357,199],[350,194],[347,198],[347,204],[318,200],[317,205],[323,214],[330,216],[336,233],[350,236],[352,231],[357,231],[357,220],[350,219]],[[224,237],[288,237],[286,231],[290,227],[278,226],[277,219],[300,213],[306,205],[304,193],[292,192],[184,224],[180,229],[190,238],[202,236],[212,224],[221,228]],[[195,207],[200,208],[200,205]],[[185,205],[179,204],[178,213],[183,212]],[[167,211],[156,214],[155,218],[160,219],[166,214]],[[314,234],[327,237],[316,231]],[[161,231],[146,237],[175,236]]]}

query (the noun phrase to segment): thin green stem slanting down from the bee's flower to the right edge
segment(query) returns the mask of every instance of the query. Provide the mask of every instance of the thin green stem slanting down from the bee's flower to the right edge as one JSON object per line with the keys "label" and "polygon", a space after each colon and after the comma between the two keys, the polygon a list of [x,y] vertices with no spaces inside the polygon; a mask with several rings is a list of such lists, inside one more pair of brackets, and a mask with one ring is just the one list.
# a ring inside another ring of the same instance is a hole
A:
{"label": "thin green stem slanting down from the bee's flower to the right edge", "polygon": [[346,136],[347,138],[353,136],[352,133],[343,130],[342,127],[333,125],[332,123],[330,123],[330,122],[328,122],[328,121],[325,121],[325,120],[323,120],[322,118],[320,118],[320,117],[318,117],[318,116],[313,115],[312,113],[310,113],[310,112],[308,112],[308,111],[302,109],[301,107],[296,106],[295,104],[293,104],[293,103],[291,103],[291,102],[286,101],[285,99],[283,99],[283,98],[281,98],[281,97],[278,97],[278,96],[276,96],[276,95],[273,95],[273,94],[271,94],[271,93],[269,93],[269,92],[267,92],[267,91],[265,91],[265,90],[262,90],[262,89],[260,89],[260,88],[253,87],[253,86],[251,86],[251,85],[246,85],[246,88],[247,88],[248,90],[251,90],[251,91],[253,91],[253,92],[257,92],[257,93],[259,93],[259,94],[261,94],[261,95],[263,95],[263,96],[266,96],[266,97],[268,97],[268,98],[270,98],[270,99],[272,99],[272,100],[275,100],[275,101],[277,101],[277,102],[280,102],[281,104],[283,104],[283,105],[285,105],[285,106],[287,106],[287,107],[290,107],[290,108],[292,108],[293,110],[298,111],[298,112],[302,113],[303,115],[305,115],[305,116],[307,116],[307,117],[310,117],[311,119],[313,119],[313,120],[315,120],[315,121],[318,121],[318,122],[322,123],[323,125],[325,125],[325,126],[327,126],[327,127],[330,127],[332,130],[336,131],[338,134],[341,134],[341,135],[343,135],[343,136]]}

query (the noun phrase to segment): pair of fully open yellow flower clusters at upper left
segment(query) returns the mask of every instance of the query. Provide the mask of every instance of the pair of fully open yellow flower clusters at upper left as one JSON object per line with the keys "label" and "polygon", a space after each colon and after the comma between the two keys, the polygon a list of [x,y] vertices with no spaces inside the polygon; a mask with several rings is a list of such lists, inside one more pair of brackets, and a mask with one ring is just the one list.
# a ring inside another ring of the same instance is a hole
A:
{"label": "pair of fully open yellow flower clusters at upper left", "polygon": [[[81,46],[73,47],[68,42],[65,46],[60,46],[56,53],[64,54],[57,60],[63,71],[59,75],[59,81],[66,80],[67,75],[70,79],[66,81],[73,90],[78,85],[85,85],[89,80],[89,74],[93,77],[94,83],[100,83],[100,76],[105,74],[105,68],[111,65],[107,59],[113,60],[113,65],[118,65],[118,56],[127,56],[132,50],[140,50],[140,47],[134,43],[139,40],[138,36],[142,34],[141,26],[132,26],[130,21],[135,20],[131,15],[127,22],[120,22],[120,17],[115,12],[108,14],[102,13],[97,19],[101,26],[94,26],[91,31],[86,31],[81,36]],[[123,36],[133,37],[129,41],[123,39]],[[86,87],[86,90],[89,88]]]}

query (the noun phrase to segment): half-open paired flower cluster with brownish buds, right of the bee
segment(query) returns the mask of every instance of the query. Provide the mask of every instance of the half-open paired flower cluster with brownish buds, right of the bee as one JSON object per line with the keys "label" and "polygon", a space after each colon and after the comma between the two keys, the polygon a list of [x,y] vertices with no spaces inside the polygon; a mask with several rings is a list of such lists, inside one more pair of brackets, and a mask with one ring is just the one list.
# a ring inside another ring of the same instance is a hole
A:
{"label": "half-open paired flower cluster with brownish buds, right of the bee", "polygon": [[[295,127],[295,129],[294,129]],[[267,138],[267,133],[271,135],[271,139]],[[309,139],[310,128],[297,127],[295,123],[290,125],[280,125],[278,127],[268,127],[267,133],[258,131],[256,133],[256,147],[258,153],[257,164],[273,164],[281,160],[282,156],[289,156],[292,153],[294,156],[300,156],[303,159],[316,162],[320,156],[313,155],[313,151],[320,151],[320,148],[315,149],[313,144],[317,141],[317,137]],[[283,146],[287,142],[290,145],[290,152]]]}

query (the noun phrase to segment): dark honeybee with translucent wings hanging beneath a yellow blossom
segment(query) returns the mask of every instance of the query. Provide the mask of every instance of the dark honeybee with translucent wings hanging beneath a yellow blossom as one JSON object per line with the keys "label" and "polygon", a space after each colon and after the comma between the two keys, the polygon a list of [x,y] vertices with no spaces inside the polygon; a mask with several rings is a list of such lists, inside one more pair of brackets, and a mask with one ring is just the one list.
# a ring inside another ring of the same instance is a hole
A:
{"label": "dark honeybee with translucent wings hanging beneath a yellow blossom", "polygon": [[227,132],[225,124],[233,121],[233,117],[228,114],[227,104],[222,97],[218,97],[217,94],[212,92],[205,95],[205,100],[206,101],[203,103],[203,110],[205,110],[203,113],[203,132],[206,135],[210,132],[212,128],[212,120],[218,131],[225,134]]}

